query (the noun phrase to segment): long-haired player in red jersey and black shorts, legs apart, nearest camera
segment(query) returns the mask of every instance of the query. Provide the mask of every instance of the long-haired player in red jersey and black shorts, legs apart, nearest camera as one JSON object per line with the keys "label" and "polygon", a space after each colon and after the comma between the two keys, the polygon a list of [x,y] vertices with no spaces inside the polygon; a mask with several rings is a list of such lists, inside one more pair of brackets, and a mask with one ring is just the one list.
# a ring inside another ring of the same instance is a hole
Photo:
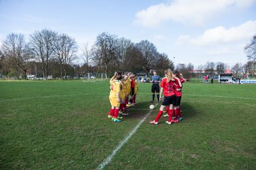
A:
{"label": "long-haired player in red jersey and black shorts, legs apart, nearest camera", "polygon": [[178,84],[178,79],[174,77],[171,69],[166,69],[164,71],[165,77],[161,81],[160,99],[162,99],[162,94],[164,93],[164,101],[161,103],[159,113],[156,115],[155,120],[151,120],[149,123],[158,124],[159,118],[163,114],[164,108],[169,106],[169,120],[166,121],[167,124],[171,125],[171,119],[174,113],[173,105],[175,102],[174,86]]}

